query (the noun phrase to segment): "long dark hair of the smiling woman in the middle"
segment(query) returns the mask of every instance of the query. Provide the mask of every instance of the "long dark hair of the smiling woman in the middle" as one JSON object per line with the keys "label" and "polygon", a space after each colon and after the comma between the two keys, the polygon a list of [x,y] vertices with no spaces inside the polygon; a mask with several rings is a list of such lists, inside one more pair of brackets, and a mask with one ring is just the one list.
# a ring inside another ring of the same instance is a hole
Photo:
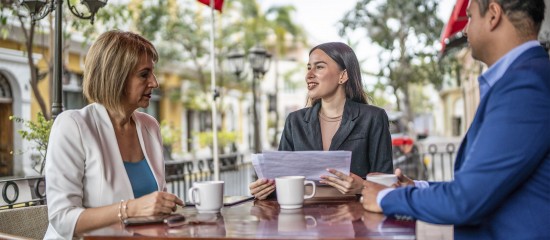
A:
{"label": "long dark hair of the smiling woman in the middle", "polygon": [[[309,51],[309,55],[315,50],[320,49],[334,60],[341,70],[346,70],[348,81],[345,83],[346,98],[358,103],[368,104],[367,94],[363,90],[363,81],[361,80],[361,69],[359,60],[355,52],[348,45],[341,42],[322,43]],[[313,106],[321,99],[308,99],[308,105]]]}

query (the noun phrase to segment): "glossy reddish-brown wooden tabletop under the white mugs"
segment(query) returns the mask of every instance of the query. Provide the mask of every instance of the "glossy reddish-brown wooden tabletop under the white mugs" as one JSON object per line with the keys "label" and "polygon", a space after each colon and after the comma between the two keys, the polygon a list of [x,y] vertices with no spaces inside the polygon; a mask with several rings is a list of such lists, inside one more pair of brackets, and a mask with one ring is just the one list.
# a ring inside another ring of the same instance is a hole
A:
{"label": "glossy reddish-brown wooden tabletop under the white mugs", "polygon": [[[416,239],[416,222],[363,210],[356,200],[306,201],[296,210],[280,209],[277,201],[249,201],[224,207],[220,214],[199,214],[194,207],[178,210],[200,223],[169,228],[164,224],[89,232],[84,239]],[[452,239],[452,229],[443,230]]]}

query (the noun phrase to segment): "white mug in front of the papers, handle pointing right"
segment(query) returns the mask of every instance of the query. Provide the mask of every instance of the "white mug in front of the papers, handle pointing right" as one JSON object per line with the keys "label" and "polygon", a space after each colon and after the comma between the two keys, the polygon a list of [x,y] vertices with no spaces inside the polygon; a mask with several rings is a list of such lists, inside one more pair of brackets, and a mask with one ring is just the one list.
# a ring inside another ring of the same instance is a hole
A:
{"label": "white mug in front of the papers, handle pointing right", "polygon": [[[315,182],[306,181],[304,176],[286,176],[275,178],[277,202],[282,209],[296,209],[304,205],[304,199],[315,195]],[[310,195],[304,196],[304,186],[311,184]]]}

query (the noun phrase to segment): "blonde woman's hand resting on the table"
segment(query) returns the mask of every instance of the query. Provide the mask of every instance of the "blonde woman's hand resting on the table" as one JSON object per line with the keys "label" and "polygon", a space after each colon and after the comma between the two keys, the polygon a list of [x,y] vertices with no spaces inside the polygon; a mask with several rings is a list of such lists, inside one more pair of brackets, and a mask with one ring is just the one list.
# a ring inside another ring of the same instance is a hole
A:
{"label": "blonde woman's hand resting on the table", "polygon": [[170,214],[176,206],[185,204],[176,195],[167,192],[153,192],[143,197],[128,200],[128,217]]}

